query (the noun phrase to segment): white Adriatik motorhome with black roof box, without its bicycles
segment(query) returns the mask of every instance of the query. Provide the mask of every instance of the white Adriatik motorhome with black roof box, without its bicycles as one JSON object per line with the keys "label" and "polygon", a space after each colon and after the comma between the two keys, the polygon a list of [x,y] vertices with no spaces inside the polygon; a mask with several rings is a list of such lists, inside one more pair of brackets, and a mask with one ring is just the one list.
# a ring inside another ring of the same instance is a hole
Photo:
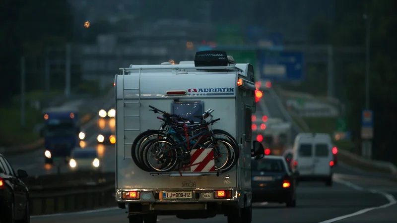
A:
{"label": "white Adriatik motorhome with black roof box, without its bicycles", "polygon": [[[251,223],[251,157],[264,154],[262,145],[251,141],[253,66],[235,64],[225,52],[207,51],[198,52],[195,61],[120,70],[115,77],[116,200],[120,208],[128,204],[130,223],[155,223],[160,215],[204,219],[218,214],[228,223]],[[220,118],[213,128],[229,132],[239,144],[238,163],[224,173],[141,170],[132,161],[132,142],[161,124],[149,106],[185,117],[213,109],[214,118]],[[189,196],[163,197],[170,192]]]}

